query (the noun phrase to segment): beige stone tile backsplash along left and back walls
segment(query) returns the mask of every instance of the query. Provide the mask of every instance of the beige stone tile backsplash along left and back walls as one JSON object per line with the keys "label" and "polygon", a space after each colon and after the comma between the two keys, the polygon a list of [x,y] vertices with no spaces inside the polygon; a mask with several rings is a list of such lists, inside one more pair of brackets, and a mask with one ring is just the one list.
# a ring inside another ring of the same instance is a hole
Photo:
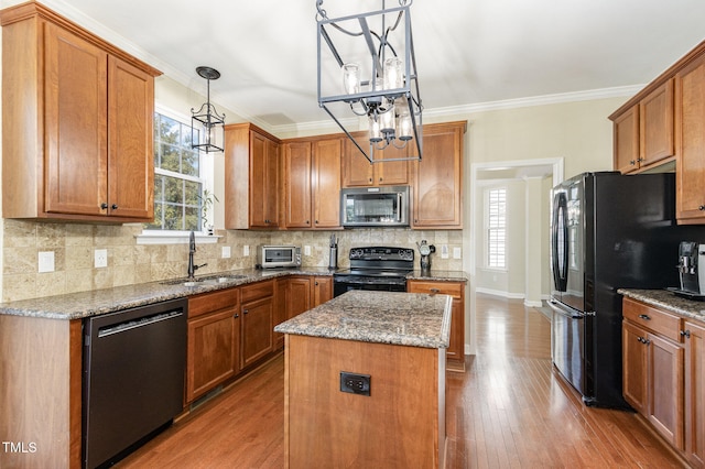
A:
{"label": "beige stone tile backsplash along left and back walls", "polygon": [[[141,225],[53,223],[3,220],[2,301],[10,302],[64,293],[75,293],[131,285],[186,275],[188,247],[178,244],[138,244]],[[196,263],[208,263],[198,274],[251,269],[257,263],[257,246],[295,244],[311,247],[302,255],[304,266],[328,265],[328,241],[336,234],[338,266],[349,265],[351,247],[399,246],[416,248],[425,239],[436,244],[432,258],[434,270],[462,270],[463,260],[453,259],[454,248],[462,248],[459,230],[416,231],[410,229],[355,229],[337,231],[240,231],[218,230],[217,242],[197,243]],[[441,246],[448,247],[448,259],[441,259]],[[223,247],[231,257],[221,258]],[[243,255],[249,246],[250,255]],[[94,268],[94,251],[105,249],[107,268]],[[39,272],[39,253],[54,253],[54,271]],[[419,260],[416,255],[416,268]]]}

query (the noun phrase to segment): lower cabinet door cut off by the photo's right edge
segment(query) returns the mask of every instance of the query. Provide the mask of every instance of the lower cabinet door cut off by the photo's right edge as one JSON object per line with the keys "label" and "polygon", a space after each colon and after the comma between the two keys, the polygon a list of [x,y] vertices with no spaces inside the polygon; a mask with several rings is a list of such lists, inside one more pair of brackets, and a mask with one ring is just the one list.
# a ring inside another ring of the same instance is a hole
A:
{"label": "lower cabinet door cut off by the photo's right edge", "polygon": [[685,323],[685,454],[705,467],[705,328]]}

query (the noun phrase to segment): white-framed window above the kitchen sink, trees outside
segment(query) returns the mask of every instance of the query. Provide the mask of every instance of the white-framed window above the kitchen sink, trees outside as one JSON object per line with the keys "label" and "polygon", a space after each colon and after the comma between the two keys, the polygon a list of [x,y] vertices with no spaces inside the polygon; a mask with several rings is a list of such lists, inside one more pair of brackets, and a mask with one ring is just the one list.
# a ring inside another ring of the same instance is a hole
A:
{"label": "white-framed window above the kitchen sink, trees outside", "polygon": [[204,178],[191,142],[191,124],[154,113],[154,222],[147,230],[202,230]]}

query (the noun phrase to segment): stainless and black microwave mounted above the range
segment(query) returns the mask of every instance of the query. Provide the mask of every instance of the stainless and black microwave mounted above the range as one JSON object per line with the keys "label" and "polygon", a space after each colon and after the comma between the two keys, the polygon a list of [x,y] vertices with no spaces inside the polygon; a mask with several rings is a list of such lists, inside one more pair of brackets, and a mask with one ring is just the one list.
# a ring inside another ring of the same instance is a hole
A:
{"label": "stainless and black microwave mounted above the range", "polygon": [[340,225],[408,227],[409,186],[356,187],[340,190]]}

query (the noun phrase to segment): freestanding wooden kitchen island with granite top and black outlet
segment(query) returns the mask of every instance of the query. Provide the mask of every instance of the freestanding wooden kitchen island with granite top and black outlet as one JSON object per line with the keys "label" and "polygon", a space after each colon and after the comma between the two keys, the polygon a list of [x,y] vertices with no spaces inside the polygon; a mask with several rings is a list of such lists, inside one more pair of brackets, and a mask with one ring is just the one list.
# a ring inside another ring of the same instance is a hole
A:
{"label": "freestanding wooden kitchen island with granite top and black outlet", "polygon": [[443,467],[451,305],[351,291],[276,326],[288,467]]}

